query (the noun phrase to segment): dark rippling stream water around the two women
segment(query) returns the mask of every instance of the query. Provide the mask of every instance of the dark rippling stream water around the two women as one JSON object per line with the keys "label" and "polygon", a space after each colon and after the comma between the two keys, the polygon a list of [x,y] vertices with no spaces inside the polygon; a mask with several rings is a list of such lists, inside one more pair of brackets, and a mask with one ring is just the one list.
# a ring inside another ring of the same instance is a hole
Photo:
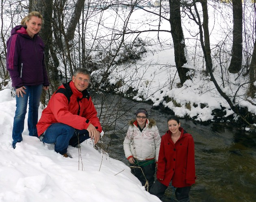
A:
{"label": "dark rippling stream water around the two women", "polygon": [[[145,107],[150,118],[156,120],[160,135],[168,130],[170,114],[114,95],[102,103],[97,102],[102,100],[101,96],[96,95],[93,100],[98,112],[103,106],[100,120],[106,133],[102,141],[110,157],[128,165],[123,141],[128,121],[135,117],[140,107]],[[180,122],[195,141],[197,181],[190,191],[191,202],[256,202],[256,133],[226,124],[203,125],[185,119],[180,119]],[[163,201],[175,201],[171,187]]]}

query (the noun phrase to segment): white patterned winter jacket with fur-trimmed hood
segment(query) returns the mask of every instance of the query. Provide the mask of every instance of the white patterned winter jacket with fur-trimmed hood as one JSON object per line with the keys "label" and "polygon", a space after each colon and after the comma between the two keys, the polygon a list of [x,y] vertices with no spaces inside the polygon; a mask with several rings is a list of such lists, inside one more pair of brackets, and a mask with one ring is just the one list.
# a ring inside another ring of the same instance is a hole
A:
{"label": "white patterned winter jacket with fur-trimmed hood", "polygon": [[137,120],[131,120],[124,138],[124,153],[127,159],[134,157],[140,161],[158,160],[161,137],[153,119],[146,120],[146,126],[141,132]]}

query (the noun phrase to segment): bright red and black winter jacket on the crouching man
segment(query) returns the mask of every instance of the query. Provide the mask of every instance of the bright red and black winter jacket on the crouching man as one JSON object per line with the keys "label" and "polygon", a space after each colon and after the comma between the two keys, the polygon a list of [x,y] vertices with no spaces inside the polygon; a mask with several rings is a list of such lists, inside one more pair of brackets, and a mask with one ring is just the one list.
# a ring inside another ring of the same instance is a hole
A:
{"label": "bright red and black winter jacket on the crouching man", "polygon": [[[38,136],[43,134],[52,123],[58,122],[78,130],[87,129],[91,123],[96,130],[99,132],[102,131],[100,121],[97,117],[97,111],[88,91],[78,91],[72,81],[68,84],[73,92],[70,101],[68,102],[67,97],[63,93],[54,92],[48,106],[43,110],[42,116],[37,123]],[[59,88],[65,87],[61,85]]]}

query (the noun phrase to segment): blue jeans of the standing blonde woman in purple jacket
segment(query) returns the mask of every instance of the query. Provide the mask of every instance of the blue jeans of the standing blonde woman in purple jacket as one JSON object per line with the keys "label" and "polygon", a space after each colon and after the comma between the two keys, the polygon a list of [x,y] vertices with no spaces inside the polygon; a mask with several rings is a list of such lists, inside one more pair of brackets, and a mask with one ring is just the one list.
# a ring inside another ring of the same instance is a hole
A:
{"label": "blue jeans of the standing blonde woman in purple jacket", "polygon": [[28,131],[30,136],[37,136],[38,108],[40,105],[43,85],[25,86],[26,94],[23,97],[16,95],[16,111],[13,120],[13,148],[17,142],[22,141],[24,121],[28,106]]}

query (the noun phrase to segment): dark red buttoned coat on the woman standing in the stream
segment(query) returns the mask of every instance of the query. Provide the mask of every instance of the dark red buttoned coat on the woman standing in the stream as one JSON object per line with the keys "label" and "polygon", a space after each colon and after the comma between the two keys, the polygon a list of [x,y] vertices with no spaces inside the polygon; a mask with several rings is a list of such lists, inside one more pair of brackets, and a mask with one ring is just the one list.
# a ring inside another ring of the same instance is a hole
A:
{"label": "dark red buttoned coat on the woman standing in the stream", "polygon": [[179,130],[181,135],[175,144],[169,130],[161,140],[156,177],[167,187],[170,181],[174,187],[189,187],[196,179],[194,140],[183,128]]}

